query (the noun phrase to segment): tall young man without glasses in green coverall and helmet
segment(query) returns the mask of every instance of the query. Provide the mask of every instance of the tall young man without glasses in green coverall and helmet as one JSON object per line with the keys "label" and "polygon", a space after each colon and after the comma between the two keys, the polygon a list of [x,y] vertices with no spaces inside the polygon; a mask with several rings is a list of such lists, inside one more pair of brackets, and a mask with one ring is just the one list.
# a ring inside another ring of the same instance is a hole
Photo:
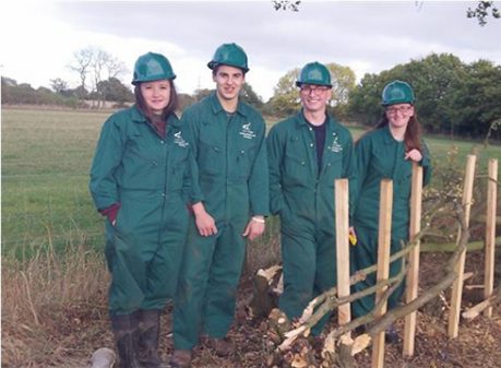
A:
{"label": "tall young man without glasses in green coverall and helmet", "polygon": [[249,71],[237,44],[219,46],[207,67],[216,90],[187,109],[202,201],[192,205],[174,313],[172,367],[190,367],[201,333],[219,356],[229,355],[246,238],[264,232],[269,214],[265,124],[239,93]]}

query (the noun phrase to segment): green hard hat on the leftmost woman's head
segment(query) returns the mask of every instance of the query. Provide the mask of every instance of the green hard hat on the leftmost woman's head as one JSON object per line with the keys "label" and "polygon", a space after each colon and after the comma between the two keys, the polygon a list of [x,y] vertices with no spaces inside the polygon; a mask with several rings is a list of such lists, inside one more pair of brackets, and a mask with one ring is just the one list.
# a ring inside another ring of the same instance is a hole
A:
{"label": "green hard hat on the leftmost woman's head", "polygon": [[134,64],[134,76],[132,84],[152,82],[159,80],[174,80],[176,74],[172,71],[169,60],[160,54],[147,52],[138,58]]}

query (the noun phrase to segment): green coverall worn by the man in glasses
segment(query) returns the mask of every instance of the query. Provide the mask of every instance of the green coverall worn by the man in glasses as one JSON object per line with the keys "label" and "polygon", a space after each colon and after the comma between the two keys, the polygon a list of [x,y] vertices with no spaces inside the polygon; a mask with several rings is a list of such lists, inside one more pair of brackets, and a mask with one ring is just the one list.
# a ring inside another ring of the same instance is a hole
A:
{"label": "green coverall worn by the man in glasses", "polygon": [[302,111],[275,124],[267,138],[271,211],[281,218],[284,263],[279,308],[289,319],[337,280],[334,180],[349,179],[354,153],[349,131],[331,116],[325,123],[321,173],[314,132]]}

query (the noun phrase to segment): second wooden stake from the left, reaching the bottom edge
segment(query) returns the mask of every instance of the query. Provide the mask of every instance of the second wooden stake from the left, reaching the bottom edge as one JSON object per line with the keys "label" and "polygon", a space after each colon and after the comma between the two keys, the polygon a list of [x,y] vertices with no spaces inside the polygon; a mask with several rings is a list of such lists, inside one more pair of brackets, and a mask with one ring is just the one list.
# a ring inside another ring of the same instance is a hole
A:
{"label": "second wooden stake from the left, reaching the bottom edge", "polygon": [[[378,271],[377,282],[387,280],[390,276],[390,246],[392,239],[392,210],[393,210],[393,181],[381,180],[381,194],[379,204],[379,234],[378,234]],[[375,292],[375,302],[381,299],[386,287]],[[386,302],[375,311],[375,317],[386,312]],[[372,367],[384,367],[384,331],[378,333],[372,343]]]}

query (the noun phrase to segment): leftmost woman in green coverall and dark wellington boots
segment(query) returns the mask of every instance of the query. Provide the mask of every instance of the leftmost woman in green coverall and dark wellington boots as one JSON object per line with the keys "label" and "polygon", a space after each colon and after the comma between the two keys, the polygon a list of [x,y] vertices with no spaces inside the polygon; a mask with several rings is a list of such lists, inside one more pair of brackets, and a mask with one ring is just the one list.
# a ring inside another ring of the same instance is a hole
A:
{"label": "leftmost woman in green coverall and dark wellington boots", "polygon": [[[158,357],[160,312],[174,298],[188,229],[194,168],[175,110],[176,78],[160,54],[135,62],[135,105],[104,123],[90,189],[107,217],[109,314],[119,368],[167,367]],[[191,165],[191,164],[192,165]]]}

